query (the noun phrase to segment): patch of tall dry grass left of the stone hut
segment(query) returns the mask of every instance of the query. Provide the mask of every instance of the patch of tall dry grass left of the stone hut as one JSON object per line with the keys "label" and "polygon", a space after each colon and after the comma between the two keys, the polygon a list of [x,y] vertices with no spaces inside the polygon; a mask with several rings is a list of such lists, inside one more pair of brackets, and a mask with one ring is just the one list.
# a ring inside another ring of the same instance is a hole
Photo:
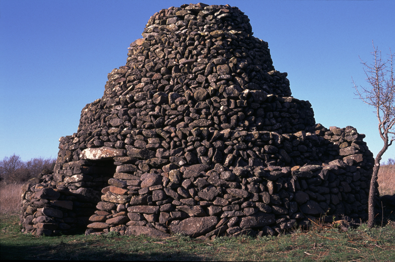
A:
{"label": "patch of tall dry grass left of the stone hut", "polygon": [[0,183],[0,214],[14,215],[21,210],[22,184]]}

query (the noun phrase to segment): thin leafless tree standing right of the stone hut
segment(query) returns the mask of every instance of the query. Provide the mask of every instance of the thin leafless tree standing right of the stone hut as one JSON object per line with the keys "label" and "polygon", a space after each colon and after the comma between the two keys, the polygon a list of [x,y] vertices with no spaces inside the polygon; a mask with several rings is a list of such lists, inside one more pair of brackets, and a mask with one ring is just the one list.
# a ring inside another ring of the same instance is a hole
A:
{"label": "thin leafless tree standing right of the stone hut", "polygon": [[[373,41],[372,41],[373,44]],[[387,61],[381,59],[381,51],[373,44],[373,63],[368,65],[361,60],[363,71],[366,75],[366,81],[369,87],[357,86],[353,80],[356,95],[363,102],[375,108],[377,119],[379,121],[379,133],[384,141],[383,148],[377,154],[374,160],[372,179],[370,180],[368,212],[368,227],[374,226],[374,196],[376,192],[377,174],[380,168],[380,161],[388,147],[395,140],[395,86],[394,86],[394,55],[391,52]],[[389,136],[392,136],[391,138]]]}

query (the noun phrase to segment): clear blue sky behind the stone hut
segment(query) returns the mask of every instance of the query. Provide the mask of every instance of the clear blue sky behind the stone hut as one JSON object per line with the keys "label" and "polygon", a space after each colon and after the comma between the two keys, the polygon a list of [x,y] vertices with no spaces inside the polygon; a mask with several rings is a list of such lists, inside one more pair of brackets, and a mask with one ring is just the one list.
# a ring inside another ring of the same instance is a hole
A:
{"label": "clear blue sky behind the stone hut", "polygon": [[[107,74],[124,66],[129,44],[155,12],[186,1],[1,0],[0,160],[56,158],[59,137],[77,132],[81,109],[101,98]],[[353,126],[374,156],[383,147],[378,121],[354,95],[365,85],[359,57],[372,40],[395,51],[395,1],[206,0],[237,6],[254,36],[269,42],[292,95],[309,100],[316,123]],[[395,145],[383,160],[395,158]]]}

